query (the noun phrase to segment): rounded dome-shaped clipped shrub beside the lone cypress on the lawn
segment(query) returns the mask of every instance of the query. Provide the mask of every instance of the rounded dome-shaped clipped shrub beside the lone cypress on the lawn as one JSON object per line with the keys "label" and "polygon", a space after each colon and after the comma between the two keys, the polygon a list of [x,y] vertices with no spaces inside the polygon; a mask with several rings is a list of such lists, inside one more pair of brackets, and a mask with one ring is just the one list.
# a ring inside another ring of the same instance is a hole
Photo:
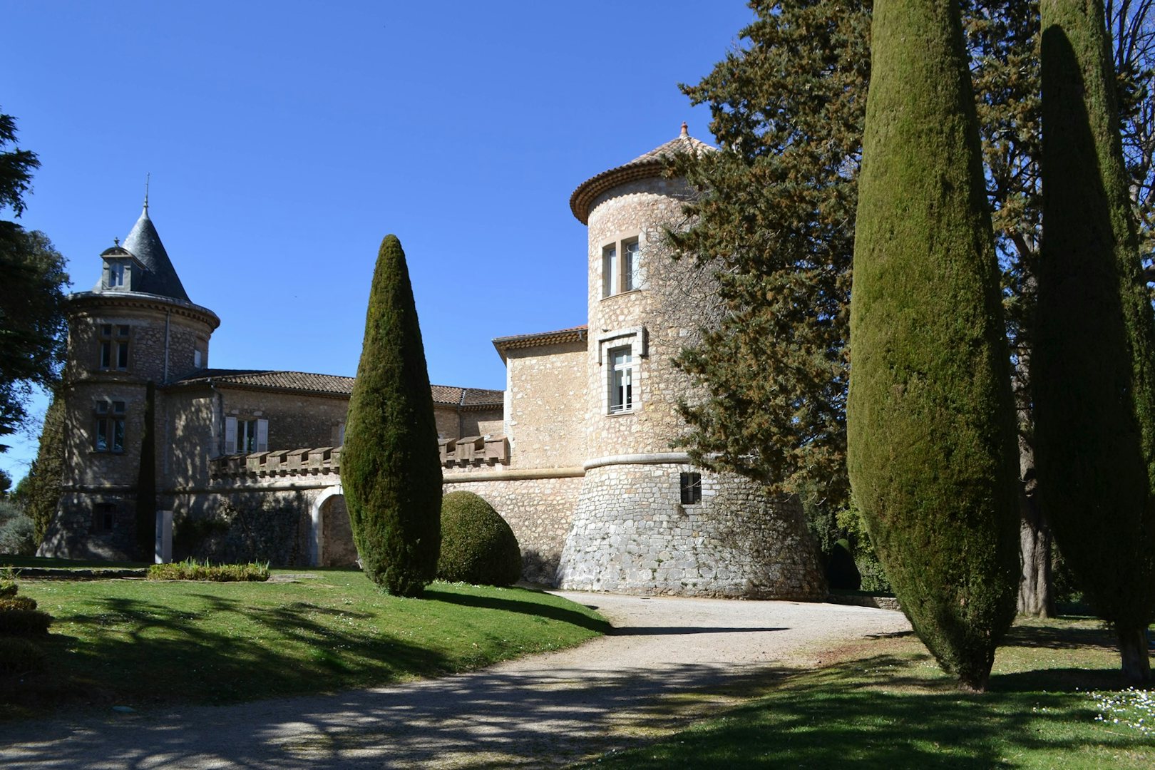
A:
{"label": "rounded dome-shaped clipped shrub beside the lone cypress on the lawn", "polygon": [[521,548],[513,530],[493,506],[472,492],[450,492],[441,500],[444,581],[509,585],[521,577]]}

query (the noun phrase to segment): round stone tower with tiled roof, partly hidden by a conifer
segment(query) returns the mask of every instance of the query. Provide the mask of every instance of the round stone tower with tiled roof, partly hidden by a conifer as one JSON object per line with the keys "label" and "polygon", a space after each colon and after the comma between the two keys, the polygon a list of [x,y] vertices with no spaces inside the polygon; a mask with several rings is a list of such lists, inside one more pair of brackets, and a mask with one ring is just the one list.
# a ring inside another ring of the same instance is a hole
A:
{"label": "round stone tower with tiled roof, partly hidden by a conifer", "polygon": [[673,261],[666,227],[693,190],[665,178],[681,135],[588,179],[569,207],[589,229],[586,474],[558,584],[579,590],[820,599],[825,582],[800,506],[732,474],[691,465],[672,358],[708,321],[715,284]]}

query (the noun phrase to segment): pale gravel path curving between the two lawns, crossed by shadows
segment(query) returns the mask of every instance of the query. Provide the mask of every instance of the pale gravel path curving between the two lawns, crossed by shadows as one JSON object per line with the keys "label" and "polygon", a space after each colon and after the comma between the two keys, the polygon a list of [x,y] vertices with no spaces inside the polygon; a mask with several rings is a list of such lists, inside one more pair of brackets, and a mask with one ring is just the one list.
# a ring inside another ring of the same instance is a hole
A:
{"label": "pale gravel path curving between the two lawns, crossed by shadows", "polygon": [[0,765],[553,767],[673,730],[835,645],[910,628],[866,607],[560,593],[614,631],[396,687],[0,724]]}

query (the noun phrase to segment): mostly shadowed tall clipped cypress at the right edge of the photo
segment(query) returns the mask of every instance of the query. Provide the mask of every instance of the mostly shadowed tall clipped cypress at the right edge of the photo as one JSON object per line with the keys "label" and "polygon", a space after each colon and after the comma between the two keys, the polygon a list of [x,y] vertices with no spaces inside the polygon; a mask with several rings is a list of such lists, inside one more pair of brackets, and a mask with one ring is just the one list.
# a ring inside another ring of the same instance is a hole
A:
{"label": "mostly shadowed tall clipped cypress at the right edge of the photo", "polygon": [[1035,343],[1038,489],[1063,556],[1150,676],[1155,317],[1130,215],[1098,0],[1044,0],[1043,246]]}

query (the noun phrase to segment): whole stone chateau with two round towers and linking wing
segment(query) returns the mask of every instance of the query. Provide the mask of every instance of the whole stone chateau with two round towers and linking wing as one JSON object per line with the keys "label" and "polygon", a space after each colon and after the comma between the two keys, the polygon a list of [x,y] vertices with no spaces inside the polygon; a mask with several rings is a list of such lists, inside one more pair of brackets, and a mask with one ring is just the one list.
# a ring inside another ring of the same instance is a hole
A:
{"label": "whole stone chateau with two round towers and linking wing", "polygon": [[[433,386],[445,491],[509,522],[524,577],[567,589],[821,599],[797,503],[772,501],[677,449],[671,358],[707,319],[702,271],[662,249],[691,194],[663,175],[681,135],[579,185],[589,313],[569,329],[493,341],[506,388]],[[221,323],[194,304],[148,202],[68,301],[65,478],[40,553],[126,558],[135,541],[149,386],[157,507],[174,555],[342,566],[356,560],[341,487],[351,377],[210,366]],[[566,290],[566,287],[557,287]],[[580,291],[580,287],[571,287]]]}

